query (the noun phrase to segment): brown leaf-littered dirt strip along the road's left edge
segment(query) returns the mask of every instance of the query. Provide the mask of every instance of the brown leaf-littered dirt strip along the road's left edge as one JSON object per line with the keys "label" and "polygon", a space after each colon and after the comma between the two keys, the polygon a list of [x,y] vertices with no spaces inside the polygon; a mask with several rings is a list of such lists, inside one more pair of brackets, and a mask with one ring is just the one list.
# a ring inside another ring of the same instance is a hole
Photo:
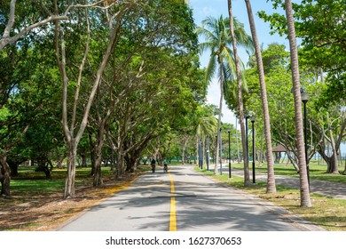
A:
{"label": "brown leaf-littered dirt strip along the road's left edge", "polygon": [[48,196],[0,197],[0,230],[47,231],[106,197],[127,188],[141,173],[131,173],[119,181],[104,180],[101,187],[79,186],[75,198],[63,199],[63,193]]}

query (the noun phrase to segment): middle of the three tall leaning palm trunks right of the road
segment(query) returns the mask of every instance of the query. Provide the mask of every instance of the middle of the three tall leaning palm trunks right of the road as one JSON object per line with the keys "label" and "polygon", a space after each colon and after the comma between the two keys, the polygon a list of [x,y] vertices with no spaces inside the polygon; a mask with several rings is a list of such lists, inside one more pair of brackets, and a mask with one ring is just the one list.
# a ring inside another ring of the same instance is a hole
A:
{"label": "middle of the three tall leaning palm trunks right of the road", "polygon": [[252,13],[250,1],[245,0],[245,4],[247,4],[248,21],[250,23],[252,40],[255,45],[257,69],[258,69],[258,75],[260,80],[261,99],[262,99],[262,105],[263,105],[264,135],[265,135],[265,142],[266,142],[266,156],[267,156],[267,165],[268,165],[267,166],[268,167],[267,193],[275,193],[276,185],[275,185],[275,175],[274,175],[274,160],[272,158],[272,149],[271,149],[271,121],[269,116],[267,90],[266,90],[265,80],[264,80],[262,53],[261,53],[260,44],[258,43],[258,38],[256,34],[256,25],[255,25],[254,15]]}

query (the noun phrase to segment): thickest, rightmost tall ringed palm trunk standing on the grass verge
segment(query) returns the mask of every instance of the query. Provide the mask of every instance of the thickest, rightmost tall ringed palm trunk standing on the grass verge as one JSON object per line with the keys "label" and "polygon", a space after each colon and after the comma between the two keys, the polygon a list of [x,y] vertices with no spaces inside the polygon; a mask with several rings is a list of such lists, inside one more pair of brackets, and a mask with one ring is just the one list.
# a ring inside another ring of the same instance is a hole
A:
{"label": "thickest, rightmost tall ringed palm trunk standing on the grass verge", "polygon": [[301,191],[301,206],[310,207],[310,189],[308,182],[308,175],[306,169],[305,149],[304,149],[304,136],[303,136],[303,115],[302,115],[302,99],[301,99],[301,85],[299,76],[298,52],[296,48],[295,38],[295,20],[293,18],[292,2],[285,0],[287,28],[289,47],[291,52],[291,68],[292,68],[292,81],[295,96],[295,140],[298,150],[298,164],[300,175],[300,191]]}

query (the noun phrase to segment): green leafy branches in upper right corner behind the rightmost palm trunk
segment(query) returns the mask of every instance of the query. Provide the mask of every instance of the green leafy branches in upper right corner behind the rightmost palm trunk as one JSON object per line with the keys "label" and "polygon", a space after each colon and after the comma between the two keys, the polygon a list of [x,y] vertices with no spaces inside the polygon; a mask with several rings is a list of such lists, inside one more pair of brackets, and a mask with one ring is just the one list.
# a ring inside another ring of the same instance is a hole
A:
{"label": "green leafy branches in upper right corner behind the rightmost palm trunk", "polygon": [[[280,2],[271,0],[274,7]],[[329,87],[322,93],[325,101],[345,100],[346,65],[346,4],[344,0],[304,0],[293,4],[295,10],[295,32],[302,39],[300,63],[327,74]],[[286,19],[277,12],[260,17],[270,22],[272,32],[287,34]]]}

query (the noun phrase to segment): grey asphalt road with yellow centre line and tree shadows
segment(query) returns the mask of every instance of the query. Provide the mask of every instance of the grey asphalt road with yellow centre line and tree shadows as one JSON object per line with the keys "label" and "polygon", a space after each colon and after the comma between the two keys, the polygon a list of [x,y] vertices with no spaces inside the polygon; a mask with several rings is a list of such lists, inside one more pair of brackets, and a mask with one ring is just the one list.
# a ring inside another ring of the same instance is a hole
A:
{"label": "grey asphalt road with yellow centre line and tree shadows", "polygon": [[193,172],[158,168],[68,222],[64,231],[318,230],[285,210]]}

